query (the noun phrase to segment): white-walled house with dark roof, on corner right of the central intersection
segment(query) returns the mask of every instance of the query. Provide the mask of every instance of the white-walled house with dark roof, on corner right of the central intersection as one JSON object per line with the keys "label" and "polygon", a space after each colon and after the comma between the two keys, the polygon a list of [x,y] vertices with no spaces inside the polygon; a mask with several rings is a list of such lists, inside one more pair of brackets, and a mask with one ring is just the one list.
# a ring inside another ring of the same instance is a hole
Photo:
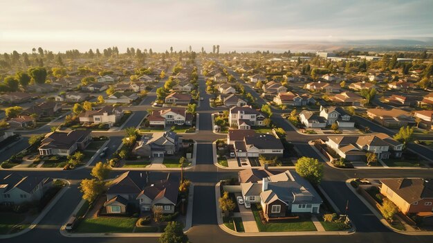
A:
{"label": "white-walled house with dark roof, on corner right of the central intersection", "polygon": [[246,157],[282,157],[284,146],[274,134],[253,134],[243,136],[242,141],[234,141],[234,154],[240,158]]}

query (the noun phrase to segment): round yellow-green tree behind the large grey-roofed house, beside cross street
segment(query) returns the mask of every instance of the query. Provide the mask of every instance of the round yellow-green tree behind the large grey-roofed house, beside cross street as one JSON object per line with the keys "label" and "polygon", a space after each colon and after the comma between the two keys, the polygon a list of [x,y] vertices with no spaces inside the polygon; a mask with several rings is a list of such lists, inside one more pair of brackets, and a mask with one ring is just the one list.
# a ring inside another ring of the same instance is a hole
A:
{"label": "round yellow-green tree behind the large grey-roofed house, beside cross street", "polygon": [[317,159],[302,157],[297,160],[295,169],[297,174],[311,183],[318,184],[323,177],[323,164]]}

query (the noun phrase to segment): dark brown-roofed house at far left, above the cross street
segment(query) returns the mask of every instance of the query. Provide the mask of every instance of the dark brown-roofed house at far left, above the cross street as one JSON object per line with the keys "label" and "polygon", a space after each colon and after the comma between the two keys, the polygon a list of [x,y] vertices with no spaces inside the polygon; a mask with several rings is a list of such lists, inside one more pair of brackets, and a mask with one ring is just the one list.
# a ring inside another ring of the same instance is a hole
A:
{"label": "dark brown-roofed house at far left, above the cross street", "polygon": [[38,147],[40,155],[69,156],[76,150],[84,150],[91,143],[91,131],[55,131],[45,135]]}

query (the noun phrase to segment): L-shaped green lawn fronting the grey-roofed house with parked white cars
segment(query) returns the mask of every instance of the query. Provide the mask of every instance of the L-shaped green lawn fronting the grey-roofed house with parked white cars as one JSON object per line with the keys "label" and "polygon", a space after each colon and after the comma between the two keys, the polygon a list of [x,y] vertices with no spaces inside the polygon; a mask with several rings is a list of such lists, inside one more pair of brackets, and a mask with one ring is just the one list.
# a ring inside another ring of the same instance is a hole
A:
{"label": "L-shaped green lawn fronting the grey-roofed house with parked white cars", "polygon": [[251,209],[260,232],[316,231],[310,219],[287,219],[262,224],[257,207],[251,206]]}

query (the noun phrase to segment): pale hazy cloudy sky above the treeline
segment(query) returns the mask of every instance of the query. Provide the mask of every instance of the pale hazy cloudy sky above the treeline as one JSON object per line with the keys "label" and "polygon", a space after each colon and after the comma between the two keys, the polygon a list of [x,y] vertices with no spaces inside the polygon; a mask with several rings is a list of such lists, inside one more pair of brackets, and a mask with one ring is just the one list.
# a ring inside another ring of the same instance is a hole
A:
{"label": "pale hazy cloudy sky above the treeline", "polygon": [[0,0],[0,52],[433,37],[432,0]]}

